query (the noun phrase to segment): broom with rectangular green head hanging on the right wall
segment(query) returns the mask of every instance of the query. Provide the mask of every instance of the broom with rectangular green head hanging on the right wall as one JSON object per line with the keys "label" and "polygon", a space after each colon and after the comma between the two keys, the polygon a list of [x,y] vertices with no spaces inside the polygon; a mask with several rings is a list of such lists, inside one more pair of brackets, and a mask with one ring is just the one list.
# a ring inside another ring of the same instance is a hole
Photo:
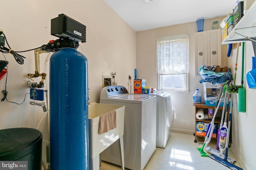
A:
{"label": "broom with rectangular green head hanging on the right wall", "polygon": [[244,84],[244,42],[242,45],[242,78],[241,78],[241,87],[238,89],[238,112],[245,112],[245,88]]}

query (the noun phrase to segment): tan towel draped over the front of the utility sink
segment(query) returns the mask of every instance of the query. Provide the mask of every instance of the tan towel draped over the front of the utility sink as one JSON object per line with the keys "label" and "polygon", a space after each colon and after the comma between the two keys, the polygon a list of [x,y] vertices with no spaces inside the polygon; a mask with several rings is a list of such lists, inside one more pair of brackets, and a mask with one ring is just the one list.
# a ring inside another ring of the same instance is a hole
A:
{"label": "tan towel draped over the front of the utility sink", "polygon": [[108,132],[116,128],[116,110],[100,115],[99,134]]}

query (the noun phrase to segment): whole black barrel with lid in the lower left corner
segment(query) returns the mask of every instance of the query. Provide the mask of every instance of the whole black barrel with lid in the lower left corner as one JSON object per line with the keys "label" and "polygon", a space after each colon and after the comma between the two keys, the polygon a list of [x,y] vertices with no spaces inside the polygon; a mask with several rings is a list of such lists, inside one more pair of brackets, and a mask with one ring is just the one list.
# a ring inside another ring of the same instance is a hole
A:
{"label": "whole black barrel with lid in the lower left corner", "polygon": [[3,168],[2,164],[9,163],[16,166],[4,169],[23,167],[27,170],[41,170],[42,136],[40,131],[32,128],[0,130],[0,167]]}

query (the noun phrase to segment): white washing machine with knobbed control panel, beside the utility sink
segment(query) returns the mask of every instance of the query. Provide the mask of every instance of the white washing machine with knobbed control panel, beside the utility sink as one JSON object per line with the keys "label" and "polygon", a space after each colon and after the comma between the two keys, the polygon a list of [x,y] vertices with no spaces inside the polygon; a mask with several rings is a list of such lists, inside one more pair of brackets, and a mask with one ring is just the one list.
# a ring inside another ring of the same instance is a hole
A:
{"label": "white washing machine with knobbed control panel, beside the utility sink", "polygon": [[[102,88],[100,103],[125,106],[124,167],[143,170],[156,150],[156,96],[129,94],[124,86]],[[118,143],[101,154],[101,159],[120,165]]]}

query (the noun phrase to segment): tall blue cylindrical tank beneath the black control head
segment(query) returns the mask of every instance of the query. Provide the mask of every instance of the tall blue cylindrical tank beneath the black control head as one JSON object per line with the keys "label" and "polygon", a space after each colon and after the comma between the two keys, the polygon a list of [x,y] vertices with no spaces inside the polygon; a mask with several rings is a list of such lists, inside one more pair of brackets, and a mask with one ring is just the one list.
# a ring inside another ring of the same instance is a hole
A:
{"label": "tall blue cylindrical tank beneath the black control head", "polygon": [[74,48],[50,58],[50,169],[88,170],[88,61]]}

